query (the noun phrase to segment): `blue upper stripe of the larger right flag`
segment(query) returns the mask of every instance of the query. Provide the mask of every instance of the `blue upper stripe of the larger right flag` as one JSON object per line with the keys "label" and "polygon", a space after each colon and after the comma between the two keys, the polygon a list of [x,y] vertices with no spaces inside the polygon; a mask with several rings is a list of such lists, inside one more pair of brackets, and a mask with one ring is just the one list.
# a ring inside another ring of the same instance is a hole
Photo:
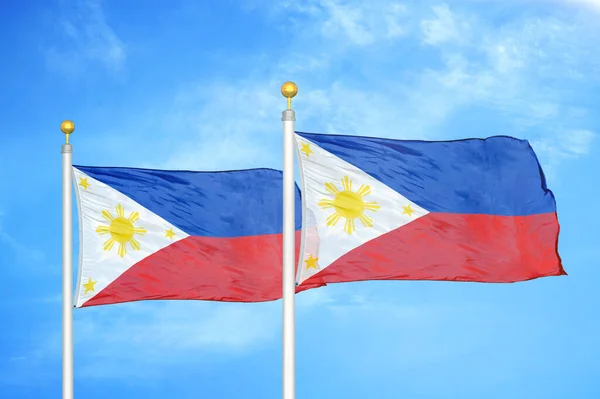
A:
{"label": "blue upper stripe of the larger right flag", "polygon": [[525,140],[408,141],[297,134],[430,212],[524,216],[556,211]]}

